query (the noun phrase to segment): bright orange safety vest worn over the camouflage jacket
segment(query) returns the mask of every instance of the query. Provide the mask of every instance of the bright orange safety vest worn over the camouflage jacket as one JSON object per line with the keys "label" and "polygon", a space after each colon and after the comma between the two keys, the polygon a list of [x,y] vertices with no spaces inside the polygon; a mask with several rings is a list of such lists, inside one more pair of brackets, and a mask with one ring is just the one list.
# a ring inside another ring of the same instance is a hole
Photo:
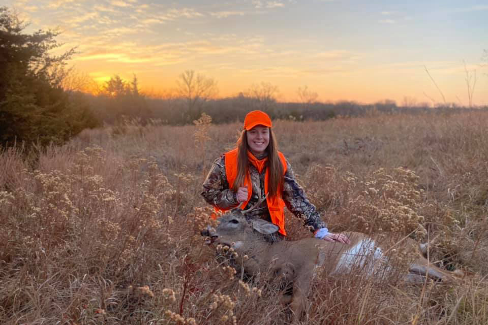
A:
{"label": "bright orange safety vest worn over the camouflage jacket", "polygon": [[[278,151],[278,155],[280,157],[281,163],[283,164],[283,175],[286,172],[286,160],[285,156]],[[237,148],[224,153],[225,156],[225,174],[227,176],[227,182],[229,182],[229,186],[232,187],[234,184],[234,180],[237,177]],[[269,173],[268,169],[266,169],[266,173],[264,174],[264,192],[268,193],[268,183],[269,183]],[[247,206],[249,200],[251,200],[251,196],[253,193],[253,186],[251,183],[251,177],[248,173],[244,179],[244,185],[248,188],[248,200],[243,203],[243,207]],[[279,191],[276,196],[274,197],[266,197],[266,203],[268,205],[269,215],[271,216],[271,222],[276,224],[280,227],[280,233],[286,236],[285,232],[285,201],[283,201],[281,197],[281,192]],[[220,209],[215,207],[216,211],[225,211],[230,210],[232,208],[227,209]]]}

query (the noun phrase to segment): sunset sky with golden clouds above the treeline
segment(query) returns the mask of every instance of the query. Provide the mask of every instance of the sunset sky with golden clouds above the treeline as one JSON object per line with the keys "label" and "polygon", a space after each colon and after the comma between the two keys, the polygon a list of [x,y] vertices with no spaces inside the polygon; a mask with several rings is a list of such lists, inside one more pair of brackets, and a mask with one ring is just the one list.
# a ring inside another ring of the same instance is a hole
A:
{"label": "sunset sky with golden clouds above the treeline", "polygon": [[[69,62],[103,84],[135,74],[146,91],[166,92],[194,70],[219,96],[253,85],[299,101],[386,99],[488,105],[488,0],[2,0],[31,22],[57,28],[77,47]],[[437,84],[437,87],[436,87]]]}

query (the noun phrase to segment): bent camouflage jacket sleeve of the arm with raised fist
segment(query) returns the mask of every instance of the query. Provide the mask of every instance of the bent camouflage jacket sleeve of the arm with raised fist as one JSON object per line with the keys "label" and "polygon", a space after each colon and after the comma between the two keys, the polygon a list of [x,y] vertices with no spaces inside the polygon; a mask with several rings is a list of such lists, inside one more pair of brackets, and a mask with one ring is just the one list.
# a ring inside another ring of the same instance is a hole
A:
{"label": "bent camouflage jacket sleeve of the arm with raised fist", "polygon": [[236,193],[229,189],[229,183],[225,174],[225,156],[214,161],[207,178],[203,182],[202,196],[208,204],[220,209],[235,207]]}

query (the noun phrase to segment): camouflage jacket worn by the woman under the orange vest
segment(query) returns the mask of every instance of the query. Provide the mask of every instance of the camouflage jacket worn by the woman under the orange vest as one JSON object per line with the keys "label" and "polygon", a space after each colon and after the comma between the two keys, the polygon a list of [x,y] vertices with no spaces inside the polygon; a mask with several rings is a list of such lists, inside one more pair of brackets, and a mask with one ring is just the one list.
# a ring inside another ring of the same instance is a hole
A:
{"label": "camouflage jacket worn by the woman under the orange vest", "polygon": [[[262,157],[260,157],[262,158]],[[303,188],[296,182],[295,174],[291,169],[290,163],[286,161],[287,168],[284,175],[284,186],[282,192],[282,199],[285,201],[286,207],[295,216],[301,217],[305,225],[310,226],[312,231],[315,231],[326,226],[322,221],[320,214],[317,212],[315,206],[310,203],[305,195]],[[253,193],[251,200],[244,209],[248,209],[259,200],[257,193],[264,196],[264,175],[266,168],[261,173],[256,167],[250,164],[249,172],[251,174],[251,182],[253,186]],[[202,196],[208,204],[216,206],[221,209],[228,209],[237,206],[236,193],[229,188],[227,177],[225,173],[225,156],[216,159],[214,165],[210,169],[203,183]],[[247,214],[248,218],[261,218],[271,221],[266,200],[256,207],[253,211]]]}

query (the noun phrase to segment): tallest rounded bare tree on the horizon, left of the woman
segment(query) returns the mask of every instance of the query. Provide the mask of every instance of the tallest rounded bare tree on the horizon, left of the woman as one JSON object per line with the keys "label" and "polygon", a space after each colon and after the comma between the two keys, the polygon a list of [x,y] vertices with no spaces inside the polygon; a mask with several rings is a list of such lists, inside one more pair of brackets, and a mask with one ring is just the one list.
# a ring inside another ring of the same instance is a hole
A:
{"label": "tallest rounded bare tree on the horizon, left of the woman", "polygon": [[190,121],[198,119],[202,114],[205,102],[215,98],[219,92],[217,81],[201,74],[195,74],[193,70],[187,70],[179,75],[176,84],[177,95],[187,102],[187,114]]}

